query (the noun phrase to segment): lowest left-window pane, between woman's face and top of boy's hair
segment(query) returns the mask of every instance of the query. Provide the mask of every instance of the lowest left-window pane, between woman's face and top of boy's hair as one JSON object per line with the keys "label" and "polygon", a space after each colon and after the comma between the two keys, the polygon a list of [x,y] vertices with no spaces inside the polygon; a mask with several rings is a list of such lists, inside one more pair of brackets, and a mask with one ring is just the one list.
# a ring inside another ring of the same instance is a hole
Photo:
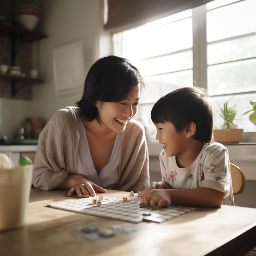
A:
{"label": "lowest left-window pane, between woman's face and top of boy's hair", "polygon": [[172,74],[145,78],[146,89],[141,92],[140,104],[156,102],[163,95],[181,87],[193,86],[193,71],[181,71]]}

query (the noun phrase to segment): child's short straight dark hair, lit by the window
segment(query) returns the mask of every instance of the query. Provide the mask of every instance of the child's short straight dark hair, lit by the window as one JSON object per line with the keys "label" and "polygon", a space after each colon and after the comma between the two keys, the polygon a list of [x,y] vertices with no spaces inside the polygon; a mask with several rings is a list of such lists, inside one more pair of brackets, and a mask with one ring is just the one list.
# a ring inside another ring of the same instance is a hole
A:
{"label": "child's short straight dark hair, lit by the window", "polygon": [[213,114],[207,91],[199,87],[184,87],[160,98],[151,111],[154,124],[171,122],[181,132],[191,122],[196,124],[193,139],[211,142]]}

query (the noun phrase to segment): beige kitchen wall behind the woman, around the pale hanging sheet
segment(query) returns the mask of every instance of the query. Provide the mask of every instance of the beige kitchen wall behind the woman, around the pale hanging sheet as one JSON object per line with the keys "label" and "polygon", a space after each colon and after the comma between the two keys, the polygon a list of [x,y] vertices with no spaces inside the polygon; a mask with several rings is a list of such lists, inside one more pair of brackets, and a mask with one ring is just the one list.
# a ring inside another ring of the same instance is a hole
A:
{"label": "beige kitchen wall behind the woman, around the pale hanging sheet", "polygon": [[43,0],[37,27],[48,38],[32,44],[32,68],[39,70],[42,84],[32,87],[32,101],[0,98],[0,135],[12,138],[25,117],[44,118],[66,106],[74,106],[81,92],[57,96],[54,90],[52,50],[58,46],[95,36],[95,56],[111,53],[111,36],[103,30],[103,0]]}

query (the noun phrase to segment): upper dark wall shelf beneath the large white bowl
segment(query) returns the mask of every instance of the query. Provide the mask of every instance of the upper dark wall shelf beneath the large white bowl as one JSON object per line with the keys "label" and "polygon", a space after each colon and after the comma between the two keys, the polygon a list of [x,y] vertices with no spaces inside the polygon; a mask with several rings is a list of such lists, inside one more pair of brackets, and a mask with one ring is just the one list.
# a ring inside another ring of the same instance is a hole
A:
{"label": "upper dark wall shelf beneath the large white bowl", "polygon": [[21,27],[0,23],[0,37],[7,37],[16,40],[22,39],[23,42],[33,43],[46,38],[47,35],[22,29]]}

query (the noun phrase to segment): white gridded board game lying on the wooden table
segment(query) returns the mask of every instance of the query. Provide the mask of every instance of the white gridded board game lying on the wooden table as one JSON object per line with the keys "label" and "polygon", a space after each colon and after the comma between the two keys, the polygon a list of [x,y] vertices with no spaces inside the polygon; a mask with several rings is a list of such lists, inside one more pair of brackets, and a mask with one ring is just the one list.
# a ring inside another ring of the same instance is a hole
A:
{"label": "white gridded board game lying on the wooden table", "polygon": [[95,196],[55,202],[47,206],[131,223],[139,223],[142,221],[161,223],[196,210],[194,207],[173,204],[168,208],[153,210],[150,206],[142,206],[139,197],[128,200],[127,197],[124,198],[125,199]]}

